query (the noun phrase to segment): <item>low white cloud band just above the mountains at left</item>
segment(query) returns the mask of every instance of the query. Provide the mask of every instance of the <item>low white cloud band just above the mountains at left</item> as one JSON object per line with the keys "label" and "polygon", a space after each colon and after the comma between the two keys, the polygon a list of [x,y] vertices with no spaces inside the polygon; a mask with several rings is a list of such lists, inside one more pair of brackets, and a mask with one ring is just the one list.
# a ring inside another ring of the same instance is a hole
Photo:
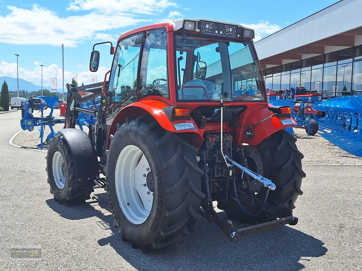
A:
{"label": "low white cloud band just above the mountains at left", "polygon": [[[90,76],[97,75],[97,81],[101,82],[104,80],[104,74],[108,71],[109,68],[99,67],[98,71],[93,73],[88,70],[84,70],[77,74],[77,79],[79,85],[84,83],[84,85],[91,83]],[[72,75],[74,72],[64,70],[64,88],[66,83],[72,82]],[[50,78],[57,76],[58,89],[62,89],[62,67],[59,67],[56,64],[51,64],[49,66],[43,66],[43,87],[50,86]],[[8,76],[12,78],[17,77],[16,73],[16,63],[7,63],[6,61],[1,61],[0,64],[0,76]],[[19,78],[29,81],[35,85],[41,86],[41,67],[37,61],[34,62],[34,68],[31,70],[25,70],[24,68],[19,67]],[[21,88],[21,86],[19,86]],[[41,89],[41,87],[39,87]]]}

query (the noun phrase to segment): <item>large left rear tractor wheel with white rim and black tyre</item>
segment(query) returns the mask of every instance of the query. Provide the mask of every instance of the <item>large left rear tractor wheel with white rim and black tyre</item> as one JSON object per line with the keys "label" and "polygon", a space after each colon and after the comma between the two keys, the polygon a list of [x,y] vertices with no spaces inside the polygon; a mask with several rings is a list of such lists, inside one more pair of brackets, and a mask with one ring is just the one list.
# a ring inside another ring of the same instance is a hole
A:
{"label": "large left rear tractor wheel with white rim and black tyre", "polygon": [[107,193],[122,240],[150,252],[193,233],[205,197],[197,149],[151,116],[127,118],[111,138]]}

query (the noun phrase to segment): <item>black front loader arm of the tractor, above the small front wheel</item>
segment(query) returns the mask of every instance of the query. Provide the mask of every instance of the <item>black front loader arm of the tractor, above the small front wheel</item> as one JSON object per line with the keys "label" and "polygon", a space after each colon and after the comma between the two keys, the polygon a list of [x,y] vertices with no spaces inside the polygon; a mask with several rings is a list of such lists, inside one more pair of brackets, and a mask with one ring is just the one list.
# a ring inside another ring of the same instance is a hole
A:
{"label": "black front loader arm of the tractor, above the small front wheel", "polygon": [[[98,116],[101,112],[94,109],[80,107],[81,104],[88,102],[98,96],[102,95],[103,82],[76,86],[75,84],[66,84],[68,90],[66,122],[64,128],[75,128],[79,112],[87,113],[89,115]],[[103,95],[102,95],[103,96]],[[104,96],[101,97],[100,111],[104,107]]]}

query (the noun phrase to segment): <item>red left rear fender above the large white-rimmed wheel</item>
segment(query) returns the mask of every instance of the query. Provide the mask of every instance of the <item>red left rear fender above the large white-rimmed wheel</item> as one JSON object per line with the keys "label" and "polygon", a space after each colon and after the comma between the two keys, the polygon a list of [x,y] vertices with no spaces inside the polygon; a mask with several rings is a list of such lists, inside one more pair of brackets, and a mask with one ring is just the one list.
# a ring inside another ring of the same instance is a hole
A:
{"label": "red left rear fender above the large white-rimmed wheel", "polygon": [[190,117],[190,120],[171,121],[163,111],[165,107],[169,107],[169,105],[159,100],[141,100],[121,109],[114,117],[109,128],[107,149],[110,145],[109,135],[115,134],[117,124],[125,123],[127,117],[140,117],[144,115],[153,116],[160,126],[169,132],[188,136],[189,143],[198,148],[203,142],[202,135],[204,129],[199,129],[192,117]]}

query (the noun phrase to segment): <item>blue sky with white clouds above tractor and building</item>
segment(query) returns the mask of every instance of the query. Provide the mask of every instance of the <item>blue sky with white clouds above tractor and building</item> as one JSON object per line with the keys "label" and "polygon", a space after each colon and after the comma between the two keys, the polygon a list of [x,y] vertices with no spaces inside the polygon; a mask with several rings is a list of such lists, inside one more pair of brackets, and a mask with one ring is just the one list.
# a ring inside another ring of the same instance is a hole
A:
{"label": "blue sky with white clouds above tractor and building", "polygon": [[[127,30],[178,18],[210,18],[241,23],[256,31],[256,40],[336,3],[336,0],[195,1],[195,0],[0,0],[0,76],[19,78],[50,86],[58,77],[64,81],[78,75],[78,82],[90,83],[89,56],[94,43],[112,41]],[[341,19],[341,18],[340,18]],[[338,20],[340,20],[338,19]],[[110,69],[109,46],[101,53],[98,82]],[[19,86],[21,89],[21,86]]]}

